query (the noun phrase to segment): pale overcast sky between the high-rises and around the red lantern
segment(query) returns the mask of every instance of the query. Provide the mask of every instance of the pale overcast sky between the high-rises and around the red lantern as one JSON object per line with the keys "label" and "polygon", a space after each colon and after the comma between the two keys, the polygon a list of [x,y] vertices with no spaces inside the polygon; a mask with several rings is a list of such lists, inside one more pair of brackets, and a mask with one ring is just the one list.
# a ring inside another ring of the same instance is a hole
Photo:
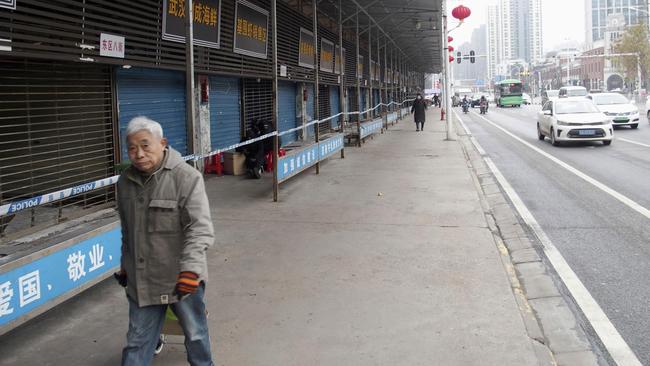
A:
{"label": "pale overcast sky between the high-rises and around the red lantern", "polygon": [[[567,39],[577,42],[578,45],[585,42],[584,0],[541,0],[541,2],[544,52],[566,43]],[[498,3],[498,0],[447,0],[450,14],[451,9],[458,5],[467,6],[472,11],[470,17],[465,19],[465,23],[451,33],[454,43],[461,45],[469,42],[472,31],[482,24],[487,24],[487,6]],[[453,23],[457,22],[451,16],[449,20]]]}

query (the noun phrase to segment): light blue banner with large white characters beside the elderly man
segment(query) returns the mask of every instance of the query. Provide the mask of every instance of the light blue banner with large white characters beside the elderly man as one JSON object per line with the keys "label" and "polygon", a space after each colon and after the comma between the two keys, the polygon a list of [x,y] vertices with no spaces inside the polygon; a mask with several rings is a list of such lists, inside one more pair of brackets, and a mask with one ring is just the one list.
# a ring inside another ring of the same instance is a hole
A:
{"label": "light blue banner with large white characters beside the elderly man", "polygon": [[96,280],[120,265],[120,228],[72,244],[0,273],[0,330],[31,311]]}

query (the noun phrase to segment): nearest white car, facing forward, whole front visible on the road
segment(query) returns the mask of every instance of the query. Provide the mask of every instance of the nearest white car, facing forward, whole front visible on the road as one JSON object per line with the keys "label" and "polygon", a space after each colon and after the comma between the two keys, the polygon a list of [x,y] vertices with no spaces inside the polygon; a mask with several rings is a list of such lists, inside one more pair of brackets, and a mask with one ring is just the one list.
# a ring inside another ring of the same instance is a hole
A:
{"label": "nearest white car, facing forward, whole front visible on the road", "polygon": [[564,98],[546,102],[537,115],[537,137],[551,139],[554,146],[562,141],[602,141],[612,143],[612,121],[593,101]]}

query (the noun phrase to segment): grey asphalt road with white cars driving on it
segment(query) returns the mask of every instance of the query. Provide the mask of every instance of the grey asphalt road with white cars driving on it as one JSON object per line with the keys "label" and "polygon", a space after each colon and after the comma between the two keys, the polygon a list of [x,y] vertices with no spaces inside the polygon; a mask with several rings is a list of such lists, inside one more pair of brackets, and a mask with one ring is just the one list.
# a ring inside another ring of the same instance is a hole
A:
{"label": "grey asphalt road with white cars driving on it", "polygon": [[[617,129],[611,146],[560,147],[537,139],[539,110],[491,106],[486,118],[650,209],[650,124],[643,110],[638,129]],[[650,218],[490,125],[478,108],[457,112],[639,360],[650,365]]]}

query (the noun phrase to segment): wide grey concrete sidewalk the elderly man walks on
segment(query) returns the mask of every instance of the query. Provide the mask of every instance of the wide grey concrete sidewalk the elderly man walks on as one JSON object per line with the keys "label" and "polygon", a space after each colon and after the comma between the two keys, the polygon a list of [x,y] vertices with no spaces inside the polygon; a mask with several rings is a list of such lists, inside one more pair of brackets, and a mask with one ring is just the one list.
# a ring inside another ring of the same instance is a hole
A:
{"label": "wide grey concrete sidewalk the elderly man walks on", "polygon": [[[538,365],[458,142],[439,110],[281,186],[206,181],[217,365]],[[117,365],[123,291],[105,281],[3,337],[0,365]],[[172,338],[155,365],[185,363]]]}

